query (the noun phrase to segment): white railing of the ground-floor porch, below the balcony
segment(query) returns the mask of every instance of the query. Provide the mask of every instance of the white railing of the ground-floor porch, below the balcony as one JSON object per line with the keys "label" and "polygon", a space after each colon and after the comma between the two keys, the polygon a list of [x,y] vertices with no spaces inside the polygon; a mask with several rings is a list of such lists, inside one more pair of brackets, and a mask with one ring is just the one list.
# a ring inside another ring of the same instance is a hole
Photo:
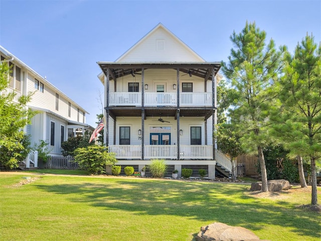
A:
{"label": "white railing of the ground-floor porch, below the balcony", "polygon": [[[141,159],[140,145],[110,145],[109,152],[116,154],[116,159]],[[146,145],[145,159],[177,159],[176,145]],[[213,159],[213,147],[203,145],[181,145],[180,159]]]}

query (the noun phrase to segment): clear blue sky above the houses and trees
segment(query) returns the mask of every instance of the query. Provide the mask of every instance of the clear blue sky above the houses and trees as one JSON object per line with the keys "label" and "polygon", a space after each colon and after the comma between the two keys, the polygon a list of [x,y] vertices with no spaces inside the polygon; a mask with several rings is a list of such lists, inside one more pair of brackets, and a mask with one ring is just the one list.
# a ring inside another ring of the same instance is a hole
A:
{"label": "clear blue sky above the houses and trees", "polygon": [[293,53],[321,41],[321,1],[0,0],[0,45],[85,108],[101,113],[97,61],[115,61],[162,23],[206,61],[226,61],[230,36],[254,22]]}

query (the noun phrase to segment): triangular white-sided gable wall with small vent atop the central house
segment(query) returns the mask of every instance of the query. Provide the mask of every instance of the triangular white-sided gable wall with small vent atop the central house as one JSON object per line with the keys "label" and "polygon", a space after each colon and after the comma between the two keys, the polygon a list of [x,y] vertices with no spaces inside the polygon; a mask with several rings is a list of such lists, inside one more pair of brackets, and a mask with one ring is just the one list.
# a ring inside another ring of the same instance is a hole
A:
{"label": "triangular white-sided gable wall with small vent atop the central house", "polygon": [[163,27],[157,27],[116,62],[204,62],[204,60],[172,33]]}

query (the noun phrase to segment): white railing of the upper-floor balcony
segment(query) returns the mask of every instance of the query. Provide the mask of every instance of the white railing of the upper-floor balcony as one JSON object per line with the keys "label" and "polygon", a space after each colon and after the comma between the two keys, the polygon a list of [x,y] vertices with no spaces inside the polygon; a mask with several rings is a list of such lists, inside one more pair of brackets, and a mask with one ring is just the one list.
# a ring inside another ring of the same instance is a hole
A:
{"label": "white railing of the upper-floor balcony", "polygon": [[[110,106],[142,106],[140,92],[111,92]],[[180,93],[181,106],[212,106],[212,93]],[[144,106],[177,106],[177,93],[144,93]]]}

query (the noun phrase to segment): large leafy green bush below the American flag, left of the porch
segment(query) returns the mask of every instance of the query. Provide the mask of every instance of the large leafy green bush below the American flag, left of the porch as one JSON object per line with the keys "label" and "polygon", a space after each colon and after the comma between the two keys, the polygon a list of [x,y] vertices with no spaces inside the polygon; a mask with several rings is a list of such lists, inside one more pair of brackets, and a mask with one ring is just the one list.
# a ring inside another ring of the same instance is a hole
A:
{"label": "large leafy green bush below the American flag, left of the porch", "polygon": [[92,174],[104,174],[106,165],[114,165],[117,160],[114,153],[107,151],[107,147],[91,145],[75,150],[75,162],[82,170]]}

